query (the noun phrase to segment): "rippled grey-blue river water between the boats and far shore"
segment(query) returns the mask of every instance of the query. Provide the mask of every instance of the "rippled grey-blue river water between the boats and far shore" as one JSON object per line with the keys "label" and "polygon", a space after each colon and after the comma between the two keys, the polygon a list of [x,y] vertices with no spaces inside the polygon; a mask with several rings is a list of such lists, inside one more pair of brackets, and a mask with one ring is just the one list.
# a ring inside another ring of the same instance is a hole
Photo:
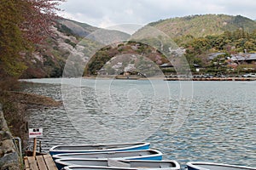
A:
{"label": "rippled grey-blue river water between the boats and far shore", "polygon": [[55,144],[144,140],[164,159],[183,165],[256,167],[256,82],[26,81],[38,83],[24,91],[64,100],[58,108],[33,109],[28,116],[29,127],[44,128],[44,151]]}

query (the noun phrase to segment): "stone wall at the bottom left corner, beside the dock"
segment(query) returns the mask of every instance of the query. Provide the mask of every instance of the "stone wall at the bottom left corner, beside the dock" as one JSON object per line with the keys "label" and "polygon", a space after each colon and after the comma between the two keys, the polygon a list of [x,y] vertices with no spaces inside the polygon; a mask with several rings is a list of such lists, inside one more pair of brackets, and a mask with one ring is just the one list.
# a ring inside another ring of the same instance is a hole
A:
{"label": "stone wall at the bottom left corner, beside the dock", "polygon": [[20,162],[12,134],[3,116],[0,104],[0,170],[19,170]]}

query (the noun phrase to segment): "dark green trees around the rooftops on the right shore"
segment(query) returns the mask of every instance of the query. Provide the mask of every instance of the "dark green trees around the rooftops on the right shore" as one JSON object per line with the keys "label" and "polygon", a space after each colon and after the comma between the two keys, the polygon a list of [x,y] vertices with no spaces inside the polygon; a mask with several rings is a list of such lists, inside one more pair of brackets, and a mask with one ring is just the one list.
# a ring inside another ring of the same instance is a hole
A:
{"label": "dark green trees around the rooftops on the right shore", "polygon": [[[186,48],[186,54],[184,55],[189,62],[190,68],[193,68],[194,65],[201,65],[202,67],[212,68],[208,68],[208,71],[223,70],[224,63],[222,62],[220,65],[220,59],[227,59],[230,54],[253,53],[256,51],[255,31],[249,33],[238,29],[236,31],[224,31],[223,34],[218,36],[193,38],[184,45]],[[209,61],[207,55],[214,52],[224,52],[225,54]]]}

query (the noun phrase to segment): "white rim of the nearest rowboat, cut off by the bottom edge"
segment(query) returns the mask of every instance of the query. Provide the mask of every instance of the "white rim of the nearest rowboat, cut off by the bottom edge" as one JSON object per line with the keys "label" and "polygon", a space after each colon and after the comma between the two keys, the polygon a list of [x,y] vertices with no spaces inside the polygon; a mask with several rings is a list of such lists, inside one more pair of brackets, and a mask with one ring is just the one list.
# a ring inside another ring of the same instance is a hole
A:
{"label": "white rim of the nearest rowboat, cut off by the bottom edge", "polygon": [[84,167],[84,166],[68,166],[64,170],[137,170],[129,167]]}

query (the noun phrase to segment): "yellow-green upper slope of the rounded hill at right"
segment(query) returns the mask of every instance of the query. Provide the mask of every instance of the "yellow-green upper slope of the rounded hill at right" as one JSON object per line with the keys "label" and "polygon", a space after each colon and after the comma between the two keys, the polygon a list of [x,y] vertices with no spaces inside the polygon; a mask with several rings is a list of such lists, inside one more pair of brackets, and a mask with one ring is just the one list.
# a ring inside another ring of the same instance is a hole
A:
{"label": "yellow-green upper slope of the rounded hill at right", "polygon": [[236,31],[243,29],[252,32],[256,29],[256,21],[241,15],[231,16],[226,14],[203,14],[177,17],[167,20],[159,20],[149,23],[170,37],[205,37],[207,35],[219,35],[224,31]]}

